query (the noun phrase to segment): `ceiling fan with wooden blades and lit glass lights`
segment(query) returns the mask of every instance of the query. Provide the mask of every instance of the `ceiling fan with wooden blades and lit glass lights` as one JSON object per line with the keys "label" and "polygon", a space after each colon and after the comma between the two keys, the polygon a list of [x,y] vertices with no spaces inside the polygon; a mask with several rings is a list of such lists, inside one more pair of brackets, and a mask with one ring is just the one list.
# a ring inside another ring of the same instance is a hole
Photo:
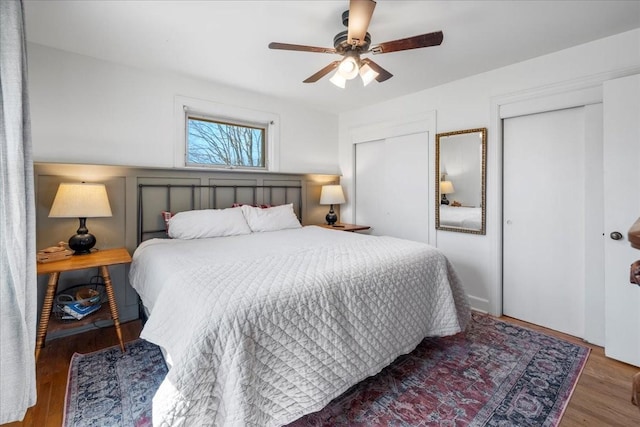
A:
{"label": "ceiling fan with wooden blades and lit glass lights", "polygon": [[418,49],[421,47],[438,46],[442,43],[442,31],[407,37],[371,46],[371,35],[367,32],[369,22],[376,7],[374,0],[350,0],[349,10],[342,14],[342,23],[347,27],[333,38],[333,48],[305,46],[290,43],[269,43],[269,49],[294,50],[300,52],[335,53],[344,58],[333,61],[317,73],[304,80],[304,83],[314,83],[337,68],[331,77],[331,83],[344,88],[346,81],[355,78],[358,74],[364,85],[368,85],[374,79],[378,82],[393,77],[393,74],[373,62],[369,58],[361,58],[366,53],[380,54],[398,52],[402,50]]}

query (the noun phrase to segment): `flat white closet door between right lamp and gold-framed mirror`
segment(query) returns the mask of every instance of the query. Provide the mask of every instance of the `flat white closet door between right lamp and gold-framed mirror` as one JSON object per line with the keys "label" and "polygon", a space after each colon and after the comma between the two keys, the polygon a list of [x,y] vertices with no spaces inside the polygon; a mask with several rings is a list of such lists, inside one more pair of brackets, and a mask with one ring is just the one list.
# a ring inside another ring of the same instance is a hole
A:
{"label": "flat white closet door between right lamp and gold-framed mirror", "polygon": [[371,234],[429,241],[427,132],[355,145],[355,222]]}

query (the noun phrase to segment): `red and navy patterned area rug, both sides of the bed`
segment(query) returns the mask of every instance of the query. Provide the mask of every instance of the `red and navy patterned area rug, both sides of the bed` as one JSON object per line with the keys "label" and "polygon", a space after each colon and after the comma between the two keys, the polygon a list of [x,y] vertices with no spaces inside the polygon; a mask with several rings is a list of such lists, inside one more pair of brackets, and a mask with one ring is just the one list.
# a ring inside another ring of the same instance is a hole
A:
{"label": "red and navy patterned area rug, both sides of the bed", "polygon": [[[355,385],[308,426],[557,426],[589,349],[473,313],[465,333],[427,338],[378,375]],[[152,424],[166,375],[159,348],[144,340],[75,354],[64,427]]]}

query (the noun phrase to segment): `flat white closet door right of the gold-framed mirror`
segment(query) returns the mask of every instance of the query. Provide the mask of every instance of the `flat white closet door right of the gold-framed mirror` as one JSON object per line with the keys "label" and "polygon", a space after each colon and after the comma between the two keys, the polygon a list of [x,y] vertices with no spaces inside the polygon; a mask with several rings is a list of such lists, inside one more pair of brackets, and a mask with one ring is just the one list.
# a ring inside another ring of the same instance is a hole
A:
{"label": "flat white closet door right of the gold-framed mirror", "polygon": [[505,119],[503,312],[584,336],[585,113]]}

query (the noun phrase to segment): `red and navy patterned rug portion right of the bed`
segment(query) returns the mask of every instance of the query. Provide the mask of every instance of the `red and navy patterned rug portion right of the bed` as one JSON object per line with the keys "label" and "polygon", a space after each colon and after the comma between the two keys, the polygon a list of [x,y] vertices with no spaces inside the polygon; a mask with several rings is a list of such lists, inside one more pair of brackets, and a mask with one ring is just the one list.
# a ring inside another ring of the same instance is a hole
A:
{"label": "red and navy patterned rug portion right of the bed", "polygon": [[473,313],[465,333],[427,338],[307,426],[557,426],[589,349]]}

